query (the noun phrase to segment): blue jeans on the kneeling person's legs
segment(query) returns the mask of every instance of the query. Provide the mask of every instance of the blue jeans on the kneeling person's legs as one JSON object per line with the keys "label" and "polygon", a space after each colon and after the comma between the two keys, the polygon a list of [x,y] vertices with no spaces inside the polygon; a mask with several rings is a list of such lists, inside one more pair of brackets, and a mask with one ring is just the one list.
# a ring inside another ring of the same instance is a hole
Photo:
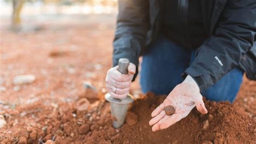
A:
{"label": "blue jeans on the kneeling person's legs", "polygon": [[[195,51],[186,50],[161,36],[143,56],[140,85],[143,93],[169,94],[180,84],[183,73],[194,60]],[[202,95],[208,100],[233,102],[242,83],[243,71],[234,68]]]}

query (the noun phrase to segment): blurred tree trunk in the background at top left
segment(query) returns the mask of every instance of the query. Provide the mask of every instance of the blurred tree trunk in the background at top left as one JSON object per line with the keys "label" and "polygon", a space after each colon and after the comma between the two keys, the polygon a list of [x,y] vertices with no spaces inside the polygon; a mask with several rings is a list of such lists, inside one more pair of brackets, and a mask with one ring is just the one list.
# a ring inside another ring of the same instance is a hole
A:
{"label": "blurred tree trunk in the background at top left", "polygon": [[21,10],[24,0],[12,0],[12,26],[13,28],[18,28],[21,24]]}

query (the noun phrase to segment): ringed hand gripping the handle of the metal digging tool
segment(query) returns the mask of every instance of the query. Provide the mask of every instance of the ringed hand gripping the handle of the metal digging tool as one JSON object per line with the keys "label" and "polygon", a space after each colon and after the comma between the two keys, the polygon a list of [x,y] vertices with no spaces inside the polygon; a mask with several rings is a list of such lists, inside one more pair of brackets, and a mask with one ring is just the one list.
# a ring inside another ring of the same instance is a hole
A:
{"label": "ringed hand gripping the handle of the metal digging tool", "polygon": [[132,78],[136,72],[136,66],[132,63],[128,66],[128,74],[122,74],[118,70],[118,65],[112,67],[106,74],[106,90],[117,99],[125,98],[129,94]]}

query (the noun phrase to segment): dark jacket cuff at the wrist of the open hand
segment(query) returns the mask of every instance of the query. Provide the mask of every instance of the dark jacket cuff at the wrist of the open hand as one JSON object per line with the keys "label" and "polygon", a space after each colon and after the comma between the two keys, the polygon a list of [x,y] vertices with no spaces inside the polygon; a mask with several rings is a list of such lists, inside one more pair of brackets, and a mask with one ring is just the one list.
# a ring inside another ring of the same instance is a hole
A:
{"label": "dark jacket cuff at the wrist of the open hand", "polygon": [[203,92],[208,87],[207,81],[210,80],[210,75],[207,73],[204,73],[204,70],[200,70],[199,67],[188,67],[185,72],[181,75],[183,79],[186,78],[187,75],[190,75],[194,81],[196,81],[200,92]]}

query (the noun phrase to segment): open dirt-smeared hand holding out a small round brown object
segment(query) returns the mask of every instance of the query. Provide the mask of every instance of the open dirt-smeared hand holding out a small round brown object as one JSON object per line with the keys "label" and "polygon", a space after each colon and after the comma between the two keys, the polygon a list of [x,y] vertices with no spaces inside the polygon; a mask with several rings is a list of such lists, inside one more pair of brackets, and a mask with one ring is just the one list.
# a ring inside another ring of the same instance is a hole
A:
{"label": "open dirt-smeared hand holding out a small round brown object", "polygon": [[[169,105],[176,109],[172,115],[166,115],[164,111],[165,106]],[[149,125],[153,125],[152,131],[155,132],[170,127],[185,118],[194,106],[197,107],[200,113],[207,113],[199,87],[196,81],[188,75],[183,83],[174,87],[164,102],[151,113],[152,119],[149,121]]]}

